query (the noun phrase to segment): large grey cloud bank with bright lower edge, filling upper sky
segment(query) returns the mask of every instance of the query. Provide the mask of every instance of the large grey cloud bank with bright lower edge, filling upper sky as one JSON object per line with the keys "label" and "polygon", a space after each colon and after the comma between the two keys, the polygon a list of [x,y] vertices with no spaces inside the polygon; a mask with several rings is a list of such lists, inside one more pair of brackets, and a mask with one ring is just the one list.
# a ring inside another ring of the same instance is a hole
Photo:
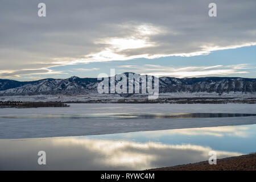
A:
{"label": "large grey cloud bank with bright lower edge, filling upper sky", "polygon": [[39,17],[40,1],[2,0],[1,77],[256,45],[255,0],[216,1],[217,17],[208,15],[210,2],[46,0],[47,16]]}

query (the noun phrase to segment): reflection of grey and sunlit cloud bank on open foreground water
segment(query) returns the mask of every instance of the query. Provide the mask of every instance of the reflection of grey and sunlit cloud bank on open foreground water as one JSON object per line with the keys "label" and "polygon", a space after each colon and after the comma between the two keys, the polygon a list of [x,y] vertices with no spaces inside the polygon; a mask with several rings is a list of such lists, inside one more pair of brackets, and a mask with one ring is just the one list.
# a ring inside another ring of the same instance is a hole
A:
{"label": "reflection of grey and sunlit cloud bank on open foreground water", "polygon": [[[0,169],[148,169],[208,160],[208,152],[213,150],[193,144],[86,137],[3,139],[0,146]],[[46,151],[46,166],[37,164],[39,150]],[[241,155],[239,152],[216,152],[218,158]]]}

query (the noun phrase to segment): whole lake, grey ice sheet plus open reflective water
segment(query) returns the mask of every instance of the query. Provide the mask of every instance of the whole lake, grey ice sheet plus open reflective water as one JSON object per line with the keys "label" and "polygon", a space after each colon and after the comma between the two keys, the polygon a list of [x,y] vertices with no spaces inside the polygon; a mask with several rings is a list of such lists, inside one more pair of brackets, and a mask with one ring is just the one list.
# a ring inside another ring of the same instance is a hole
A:
{"label": "whole lake, grey ice sheet plus open reflective water", "polygon": [[255,114],[253,104],[0,109],[0,170],[149,169],[208,160],[212,150],[219,159],[248,154],[256,151]]}

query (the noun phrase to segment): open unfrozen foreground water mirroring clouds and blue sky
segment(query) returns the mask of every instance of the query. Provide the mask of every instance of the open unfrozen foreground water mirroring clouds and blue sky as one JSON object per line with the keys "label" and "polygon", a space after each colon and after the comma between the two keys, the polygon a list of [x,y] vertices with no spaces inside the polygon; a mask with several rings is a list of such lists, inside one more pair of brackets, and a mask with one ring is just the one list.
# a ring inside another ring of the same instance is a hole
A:
{"label": "open unfrozen foreground water mirroring clouds and blue sky", "polygon": [[[0,170],[134,170],[256,151],[256,125],[202,127],[84,137],[0,139]],[[38,164],[46,152],[46,165]]]}

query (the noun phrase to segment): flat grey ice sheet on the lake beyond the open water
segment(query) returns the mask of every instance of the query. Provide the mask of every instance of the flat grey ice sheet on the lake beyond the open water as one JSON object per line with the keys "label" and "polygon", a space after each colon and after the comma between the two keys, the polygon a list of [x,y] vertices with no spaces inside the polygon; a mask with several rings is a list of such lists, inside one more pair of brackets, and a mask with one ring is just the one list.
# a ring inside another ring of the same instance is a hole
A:
{"label": "flat grey ice sheet on the lake beyond the open water", "polygon": [[256,124],[255,104],[71,104],[0,109],[0,139]]}

